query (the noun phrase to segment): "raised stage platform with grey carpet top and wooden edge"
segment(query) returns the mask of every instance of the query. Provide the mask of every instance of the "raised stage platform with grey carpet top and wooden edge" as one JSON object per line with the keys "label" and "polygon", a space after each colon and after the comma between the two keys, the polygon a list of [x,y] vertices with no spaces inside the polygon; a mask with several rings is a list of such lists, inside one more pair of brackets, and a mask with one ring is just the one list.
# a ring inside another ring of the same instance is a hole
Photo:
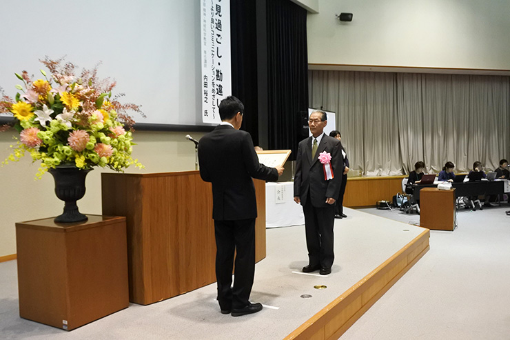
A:
{"label": "raised stage platform with grey carpet top and wooden edge", "polygon": [[[19,318],[12,279],[13,288],[4,297],[13,306],[3,314],[10,325],[6,335],[52,340],[338,339],[429,250],[428,229],[349,208],[345,214],[347,219],[335,221],[336,259],[326,276],[300,272],[308,262],[304,226],[267,230],[267,257],[256,264],[251,296],[265,306],[257,314],[221,314],[212,283],[148,306],[130,303],[66,332]],[[14,277],[15,263],[10,263],[14,261],[1,265],[12,267],[6,273]]]}

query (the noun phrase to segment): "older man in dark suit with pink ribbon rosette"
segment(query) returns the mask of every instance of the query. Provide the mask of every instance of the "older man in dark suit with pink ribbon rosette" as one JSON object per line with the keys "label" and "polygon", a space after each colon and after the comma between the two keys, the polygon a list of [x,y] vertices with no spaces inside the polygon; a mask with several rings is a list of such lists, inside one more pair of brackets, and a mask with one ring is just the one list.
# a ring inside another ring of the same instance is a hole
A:
{"label": "older man in dark suit with pink ribbon rosette", "polygon": [[[340,141],[323,132],[326,112],[312,112],[308,125],[312,137],[300,141],[298,146],[294,201],[301,203],[305,214],[309,263],[303,272],[320,270],[320,274],[326,275],[331,272],[334,260],[334,197],[338,197],[342,183],[342,154]],[[331,156],[329,163],[319,161],[321,152]]]}

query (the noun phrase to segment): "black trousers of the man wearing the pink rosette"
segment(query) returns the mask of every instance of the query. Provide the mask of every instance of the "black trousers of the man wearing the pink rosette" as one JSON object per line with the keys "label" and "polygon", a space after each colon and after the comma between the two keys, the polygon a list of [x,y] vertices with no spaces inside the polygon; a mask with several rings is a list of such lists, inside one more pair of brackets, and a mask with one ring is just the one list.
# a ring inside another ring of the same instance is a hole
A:
{"label": "black trousers of the man wearing the pink rosette", "polygon": [[316,208],[308,197],[303,206],[309,265],[331,268],[335,259],[333,227],[335,206]]}

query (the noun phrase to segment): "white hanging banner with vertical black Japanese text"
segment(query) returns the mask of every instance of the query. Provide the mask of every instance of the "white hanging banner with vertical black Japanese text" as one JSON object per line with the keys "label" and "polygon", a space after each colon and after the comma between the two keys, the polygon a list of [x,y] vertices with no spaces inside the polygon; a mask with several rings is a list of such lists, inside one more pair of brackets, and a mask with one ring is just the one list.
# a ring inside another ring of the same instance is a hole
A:
{"label": "white hanging banner with vertical black Japanese text", "polygon": [[201,0],[202,121],[220,123],[218,106],[232,94],[230,0]]}

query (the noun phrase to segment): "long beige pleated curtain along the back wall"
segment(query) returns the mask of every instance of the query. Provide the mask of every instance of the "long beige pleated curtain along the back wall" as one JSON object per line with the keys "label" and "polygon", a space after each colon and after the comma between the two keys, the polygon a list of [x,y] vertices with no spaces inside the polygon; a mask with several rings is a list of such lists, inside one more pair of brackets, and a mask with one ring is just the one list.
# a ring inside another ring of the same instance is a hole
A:
{"label": "long beige pleated curtain along the back wall", "polygon": [[510,154],[510,77],[309,71],[309,103],[337,114],[351,169],[407,174],[416,161],[439,172]]}

